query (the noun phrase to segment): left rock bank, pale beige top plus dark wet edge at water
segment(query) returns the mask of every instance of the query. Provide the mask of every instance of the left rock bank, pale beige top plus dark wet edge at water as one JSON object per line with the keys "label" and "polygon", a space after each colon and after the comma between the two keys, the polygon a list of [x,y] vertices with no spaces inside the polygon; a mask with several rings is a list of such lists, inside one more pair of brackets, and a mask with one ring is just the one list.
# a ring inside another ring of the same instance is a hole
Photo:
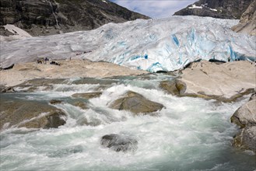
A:
{"label": "left rock bank, pale beige top plus dark wet edge at water", "polygon": [[103,87],[110,86],[117,81],[113,79],[96,78],[148,73],[146,71],[134,70],[107,62],[92,62],[75,59],[72,61],[63,60],[58,62],[61,62],[61,66],[41,65],[36,62],[17,64],[11,70],[0,71],[0,85],[26,88],[26,92],[33,92],[41,86],[44,86],[45,89],[52,89],[54,84],[63,84],[68,81],[67,79],[79,77],[85,79],[74,80],[72,84],[100,84],[100,86]]}

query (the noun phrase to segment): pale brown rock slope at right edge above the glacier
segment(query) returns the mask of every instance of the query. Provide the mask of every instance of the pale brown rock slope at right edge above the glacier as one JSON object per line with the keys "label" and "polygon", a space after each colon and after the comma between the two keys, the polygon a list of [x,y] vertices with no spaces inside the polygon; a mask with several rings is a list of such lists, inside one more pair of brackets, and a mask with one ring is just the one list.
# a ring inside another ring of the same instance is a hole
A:
{"label": "pale brown rock slope at right edge above the glacier", "polygon": [[241,16],[239,24],[233,26],[232,30],[256,36],[256,0],[251,2],[251,5]]}

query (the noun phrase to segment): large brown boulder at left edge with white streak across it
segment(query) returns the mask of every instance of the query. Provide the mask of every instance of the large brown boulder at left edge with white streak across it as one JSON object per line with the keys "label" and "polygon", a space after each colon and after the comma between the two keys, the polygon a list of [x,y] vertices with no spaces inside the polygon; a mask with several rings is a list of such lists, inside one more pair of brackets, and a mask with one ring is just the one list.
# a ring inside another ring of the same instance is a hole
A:
{"label": "large brown boulder at left edge with white streak across it", "polygon": [[62,110],[47,103],[1,98],[0,122],[2,127],[0,129],[59,127],[65,124],[66,117]]}

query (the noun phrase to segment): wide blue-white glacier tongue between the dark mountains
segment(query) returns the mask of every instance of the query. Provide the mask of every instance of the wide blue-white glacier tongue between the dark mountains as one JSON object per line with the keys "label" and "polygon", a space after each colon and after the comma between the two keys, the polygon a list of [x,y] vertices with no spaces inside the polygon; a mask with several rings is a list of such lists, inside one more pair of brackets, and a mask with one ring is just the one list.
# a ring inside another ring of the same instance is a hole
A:
{"label": "wide blue-white glacier tongue between the dark mountains", "polygon": [[237,23],[230,19],[171,16],[1,42],[1,67],[40,57],[71,57],[156,72],[174,71],[198,59],[255,60],[255,37],[230,30]]}

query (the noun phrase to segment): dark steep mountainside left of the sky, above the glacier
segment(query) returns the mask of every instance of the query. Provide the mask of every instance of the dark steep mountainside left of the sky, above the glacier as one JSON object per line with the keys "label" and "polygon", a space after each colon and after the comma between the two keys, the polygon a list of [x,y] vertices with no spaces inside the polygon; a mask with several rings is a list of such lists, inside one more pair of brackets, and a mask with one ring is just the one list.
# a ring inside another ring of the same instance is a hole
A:
{"label": "dark steep mountainside left of the sky, above the glacier", "polygon": [[0,8],[0,25],[14,24],[33,36],[149,19],[107,0],[0,0]]}

